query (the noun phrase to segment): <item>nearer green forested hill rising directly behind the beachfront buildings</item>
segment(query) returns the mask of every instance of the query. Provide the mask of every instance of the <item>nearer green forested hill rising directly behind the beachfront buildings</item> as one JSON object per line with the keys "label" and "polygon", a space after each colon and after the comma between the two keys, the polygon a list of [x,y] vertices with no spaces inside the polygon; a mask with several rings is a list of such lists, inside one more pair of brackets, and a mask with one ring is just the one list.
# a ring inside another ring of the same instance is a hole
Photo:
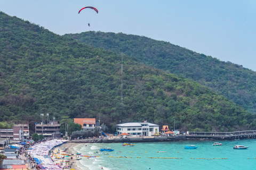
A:
{"label": "nearer green forested hill rising directly behind the beachfront buildings", "polygon": [[199,83],[0,12],[0,121],[41,113],[56,120],[95,117],[115,131],[122,122],[145,121],[177,129],[254,129],[255,115]]}

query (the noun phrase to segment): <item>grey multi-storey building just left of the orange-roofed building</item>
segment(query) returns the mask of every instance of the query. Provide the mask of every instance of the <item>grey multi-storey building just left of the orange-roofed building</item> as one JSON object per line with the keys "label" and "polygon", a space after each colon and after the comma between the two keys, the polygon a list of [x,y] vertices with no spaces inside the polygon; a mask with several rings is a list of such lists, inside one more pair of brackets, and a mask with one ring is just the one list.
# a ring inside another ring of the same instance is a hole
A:
{"label": "grey multi-storey building just left of the orange-roofed building", "polygon": [[58,121],[49,121],[49,124],[37,124],[36,133],[43,134],[45,138],[60,138],[60,124]]}

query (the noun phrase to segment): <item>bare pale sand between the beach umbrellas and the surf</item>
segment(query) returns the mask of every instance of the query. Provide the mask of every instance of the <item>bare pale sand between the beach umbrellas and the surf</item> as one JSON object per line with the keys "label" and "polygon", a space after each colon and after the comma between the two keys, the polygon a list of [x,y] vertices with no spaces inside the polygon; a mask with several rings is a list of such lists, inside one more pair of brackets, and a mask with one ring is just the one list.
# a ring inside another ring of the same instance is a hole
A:
{"label": "bare pale sand between the beach umbrellas and the surf", "polygon": [[[63,163],[62,163],[62,166],[61,167],[64,167],[65,165],[66,165],[66,163],[65,163],[65,161],[66,160],[69,160],[69,163],[67,163],[67,165],[71,165],[71,164],[73,164],[72,166],[71,166],[71,169],[75,169],[75,170],[83,170],[83,169],[81,169],[81,168],[79,168],[78,166],[77,166],[77,163],[79,162],[79,160],[76,160],[76,153],[75,153],[75,150],[73,149],[73,147],[75,147],[75,146],[77,146],[77,145],[79,145],[80,143],[65,143],[64,145],[61,145],[60,147],[57,147],[57,148],[54,148],[53,149],[53,152],[54,152],[54,154],[58,157],[63,157],[64,155],[61,155],[61,154],[66,154],[66,152],[63,152],[63,149],[62,148],[64,148],[64,147],[67,147],[68,149],[67,149],[67,151],[69,151],[68,153],[69,154],[74,154],[74,156],[69,156],[69,157],[65,157],[64,159],[54,159],[54,156],[52,157],[52,159],[54,160],[54,163],[59,163],[59,165],[61,164],[61,161],[63,161]],[[60,151],[59,152],[59,154],[57,154],[57,151]],[[54,155],[53,154],[53,155]],[[51,155],[52,156],[52,155]],[[71,159],[71,157],[73,158],[73,159]],[[68,168],[68,169],[70,169],[70,168]]]}

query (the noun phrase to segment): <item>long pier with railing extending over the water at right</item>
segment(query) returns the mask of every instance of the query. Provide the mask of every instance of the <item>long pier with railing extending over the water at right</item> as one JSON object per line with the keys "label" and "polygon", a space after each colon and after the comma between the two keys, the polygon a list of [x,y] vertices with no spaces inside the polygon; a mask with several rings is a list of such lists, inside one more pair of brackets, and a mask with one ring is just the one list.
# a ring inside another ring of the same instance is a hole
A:
{"label": "long pier with railing extending over the water at right", "polygon": [[209,140],[239,140],[256,138],[255,131],[237,132],[187,132],[187,139],[209,139]]}

